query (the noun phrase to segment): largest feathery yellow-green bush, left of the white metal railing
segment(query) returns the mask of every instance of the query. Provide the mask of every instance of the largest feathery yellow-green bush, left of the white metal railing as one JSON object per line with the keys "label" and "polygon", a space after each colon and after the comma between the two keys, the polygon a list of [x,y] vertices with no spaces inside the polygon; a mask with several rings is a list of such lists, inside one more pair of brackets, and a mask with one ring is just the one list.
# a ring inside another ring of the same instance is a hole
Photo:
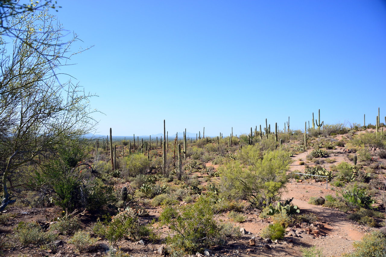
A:
{"label": "largest feathery yellow-green bush, left of the white metal railing", "polygon": [[243,148],[241,154],[249,166],[240,167],[239,161],[231,161],[218,167],[221,174],[221,191],[244,198],[256,206],[267,205],[276,200],[278,192],[287,182],[286,171],[291,159],[288,152],[274,150],[261,154],[252,145]]}

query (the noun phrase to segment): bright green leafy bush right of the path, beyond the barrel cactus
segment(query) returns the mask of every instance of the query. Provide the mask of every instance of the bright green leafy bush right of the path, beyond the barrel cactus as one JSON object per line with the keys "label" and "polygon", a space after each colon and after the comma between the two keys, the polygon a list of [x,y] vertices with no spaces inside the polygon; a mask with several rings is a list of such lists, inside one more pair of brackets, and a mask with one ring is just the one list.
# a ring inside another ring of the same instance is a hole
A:
{"label": "bright green leafy bush right of the path, beyond the barrel cactus", "polygon": [[366,190],[364,188],[359,188],[357,183],[350,188],[342,189],[340,194],[347,204],[350,203],[354,206],[371,208],[371,205],[374,203],[371,196],[367,195]]}

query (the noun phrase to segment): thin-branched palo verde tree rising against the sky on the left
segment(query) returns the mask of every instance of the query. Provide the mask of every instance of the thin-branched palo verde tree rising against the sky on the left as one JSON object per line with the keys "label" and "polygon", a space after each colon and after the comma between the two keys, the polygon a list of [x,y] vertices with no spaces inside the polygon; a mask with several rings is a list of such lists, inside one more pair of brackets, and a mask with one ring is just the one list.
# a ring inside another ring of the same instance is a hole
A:
{"label": "thin-branched palo verde tree rising against the sky on the left", "polygon": [[12,194],[23,194],[28,169],[56,158],[66,142],[81,140],[95,125],[93,95],[56,78],[74,54],[69,46],[76,35],[64,41],[62,25],[48,10],[8,15],[0,31],[0,211],[15,201]]}

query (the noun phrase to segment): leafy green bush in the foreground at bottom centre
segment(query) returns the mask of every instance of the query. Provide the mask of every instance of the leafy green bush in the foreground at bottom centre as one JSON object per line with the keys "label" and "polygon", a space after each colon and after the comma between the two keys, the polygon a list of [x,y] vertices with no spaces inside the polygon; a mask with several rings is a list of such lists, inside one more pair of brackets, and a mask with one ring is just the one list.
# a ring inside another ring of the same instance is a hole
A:
{"label": "leafy green bush in the foreground at bottom centre", "polygon": [[159,220],[171,229],[166,237],[171,254],[203,253],[205,248],[222,245],[222,227],[213,219],[211,205],[209,198],[201,196],[193,205],[165,207]]}

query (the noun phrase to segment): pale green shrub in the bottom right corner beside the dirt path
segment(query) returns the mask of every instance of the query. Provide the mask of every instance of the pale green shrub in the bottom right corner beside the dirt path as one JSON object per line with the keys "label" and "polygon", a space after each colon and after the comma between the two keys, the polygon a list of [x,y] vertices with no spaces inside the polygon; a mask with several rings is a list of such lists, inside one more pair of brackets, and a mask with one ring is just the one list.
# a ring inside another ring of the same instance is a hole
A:
{"label": "pale green shrub in the bottom right corner beside the dirt path", "polygon": [[344,257],[382,257],[385,256],[386,237],[379,231],[363,236],[359,242],[354,242],[354,252],[344,254]]}

